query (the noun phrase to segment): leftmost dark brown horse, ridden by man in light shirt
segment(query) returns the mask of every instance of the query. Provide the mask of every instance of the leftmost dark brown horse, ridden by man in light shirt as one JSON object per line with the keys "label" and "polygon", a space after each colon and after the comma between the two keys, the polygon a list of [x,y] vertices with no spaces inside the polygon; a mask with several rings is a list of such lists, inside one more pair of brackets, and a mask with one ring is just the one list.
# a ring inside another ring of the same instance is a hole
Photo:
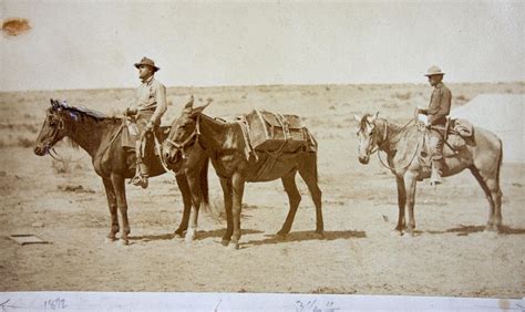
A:
{"label": "leftmost dark brown horse, ridden by man in light shirt", "polygon": [[[69,106],[56,100],[51,100],[45,121],[37,138],[34,154],[43,156],[50,154],[54,144],[64,137],[82,147],[92,157],[93,167],[104,184],[107,204],[111,212],[111,229],[109,241],[116,240],[119,232],[119,218],[116,210],[121,211],[123,232],[120,242],[128,243],[130,222],[127,220],[127,201],[125,194],[125,179],[135,174],[135,153],[125,150],[122,145],[123,121],[117,117],[107,117],[102,113],[83,107]],[[159,135],[159,134],[157,134]],[[151,150],[151,149],[150,149]],[[150,153],[153,154],[153,153]],[[52,155],[52,154],[51,154]],[[147,162],[151,176],[158,176],[166,170],[158,157],[150,155]],[[208,202],[207,196],[207,165],[202,170],[199,180],[203,180],[202,193],[204,204]],[[178,188],[184,201],[184,215],[178,229],[182,235],[187,228],[192,207],[189,187],[184,174],[176,175]],[[200,185],[199,185],[200,186]]]}

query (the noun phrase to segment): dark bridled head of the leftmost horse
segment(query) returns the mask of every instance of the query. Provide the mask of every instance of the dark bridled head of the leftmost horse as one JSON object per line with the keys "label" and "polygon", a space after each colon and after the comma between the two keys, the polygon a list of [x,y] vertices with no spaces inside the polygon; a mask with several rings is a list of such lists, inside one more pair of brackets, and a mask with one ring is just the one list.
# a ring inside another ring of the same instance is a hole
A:
{"label": "dark bridled head of the leftmost horse", "polygon": [[48,108],[45,121],[34,146],[34,154],[39,156],[45,155],[66,134],[65,106],[58,100],[51,98],[50,101],[51,107]]}

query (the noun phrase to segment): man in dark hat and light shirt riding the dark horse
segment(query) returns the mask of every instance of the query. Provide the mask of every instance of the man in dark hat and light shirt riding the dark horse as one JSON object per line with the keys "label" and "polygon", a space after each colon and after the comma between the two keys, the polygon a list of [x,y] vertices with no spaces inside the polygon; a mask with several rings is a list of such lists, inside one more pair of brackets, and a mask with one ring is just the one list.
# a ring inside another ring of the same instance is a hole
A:
{"label": "man in dark hat and light shirt riding the dark horse", "polygon": [[142,84],[137,89],[137,102],[135,105],[126,108],[125,114],[136,115],[136,125],[138,127],[138,139],[135,144],[136,153],[136,174],[131,180],[136,186],[147,187],[148,170],[147,166],[142,162],[142,147],[147,132],[161,125],[161,117],[167,110],[166,87],[154,79],[155,72],[159,67],[155,66],[155,62],[147,58],[143,58],[141,62],[135,63],[138,70],[138,77]]}

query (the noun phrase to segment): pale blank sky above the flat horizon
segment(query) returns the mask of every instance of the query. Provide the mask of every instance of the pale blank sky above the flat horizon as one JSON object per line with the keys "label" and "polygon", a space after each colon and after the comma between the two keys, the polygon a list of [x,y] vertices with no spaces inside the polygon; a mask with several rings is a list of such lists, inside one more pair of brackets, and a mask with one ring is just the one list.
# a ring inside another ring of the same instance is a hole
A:
{"label": "pale blank sky above the flat horizon", "polygon": [[134,87],[155,60],[167,86],[525,81],[518,1],[7,1],[0,90]]}

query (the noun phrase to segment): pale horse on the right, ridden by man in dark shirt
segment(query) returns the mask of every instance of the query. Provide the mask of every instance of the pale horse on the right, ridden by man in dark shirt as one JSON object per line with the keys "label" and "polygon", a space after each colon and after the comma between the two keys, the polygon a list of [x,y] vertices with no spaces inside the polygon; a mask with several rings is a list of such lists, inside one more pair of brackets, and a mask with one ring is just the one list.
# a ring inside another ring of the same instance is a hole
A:
{"label": "pale horse on the right, ridden by man in dark shirt", "polygon": [[[379,113],[378,113],[379,114]],[[430,169],[422,152],[424,126],[400,126],[378,118],[378,114],[354,116],[359,123],[357,132],[359,141],[359,162],[368,164],[370,155],[375,150],[387,153],[388,167],[395,175],[398,183],[399,219],[395,230],[413,236],[415,229],[414,204],[418,180],[430,177]],[[378,152],[379,153],[379,152]],[[486,231],[498,232],[502,226],[502,190],[500,188],[500,169],[503,148],[501,139],[493,133],[475,127],[470,143],[460,150],[452,150],[445,145],[443,176],[455,175],[467,168],[474,175],[490,205]],[[404,208],[409,211],[409,223],[405,225]]]}

